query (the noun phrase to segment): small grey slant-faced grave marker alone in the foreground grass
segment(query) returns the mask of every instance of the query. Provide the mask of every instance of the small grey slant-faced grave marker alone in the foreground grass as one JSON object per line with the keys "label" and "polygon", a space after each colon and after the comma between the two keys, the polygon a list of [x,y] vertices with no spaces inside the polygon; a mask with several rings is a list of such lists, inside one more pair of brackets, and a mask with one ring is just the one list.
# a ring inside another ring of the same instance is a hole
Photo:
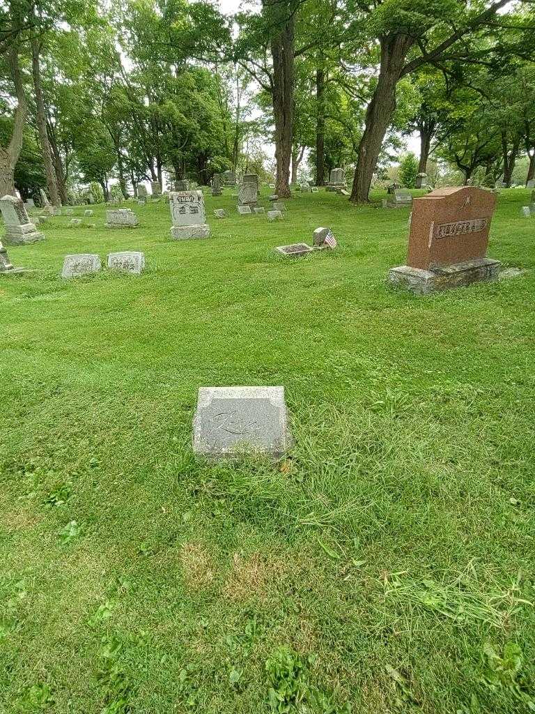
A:
{"label": "small grey slant-faced grave marker alone in the foreground grass", "polygon": [[199,389],[193,451],[200,456],[263,454],[278,458],[291,444],[284,387]]}

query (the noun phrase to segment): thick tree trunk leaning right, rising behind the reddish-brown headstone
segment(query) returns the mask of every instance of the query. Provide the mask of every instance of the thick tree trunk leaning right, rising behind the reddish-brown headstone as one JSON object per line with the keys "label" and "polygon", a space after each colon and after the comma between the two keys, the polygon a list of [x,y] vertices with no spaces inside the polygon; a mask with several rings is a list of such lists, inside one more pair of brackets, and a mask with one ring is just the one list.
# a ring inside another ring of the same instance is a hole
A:
{"label": "thick tree trunk leaning right, rising behind the reddish-brown headstone", "polygon": [[405,57],[414,40],[404,34],[381,39],[381,66],[377,87],[367,106],[364,134],[360,140],[357,168],[353,178],[350,201],[367,203],[373,172],[377,166],[384,135],[396,109],[396,85]]}

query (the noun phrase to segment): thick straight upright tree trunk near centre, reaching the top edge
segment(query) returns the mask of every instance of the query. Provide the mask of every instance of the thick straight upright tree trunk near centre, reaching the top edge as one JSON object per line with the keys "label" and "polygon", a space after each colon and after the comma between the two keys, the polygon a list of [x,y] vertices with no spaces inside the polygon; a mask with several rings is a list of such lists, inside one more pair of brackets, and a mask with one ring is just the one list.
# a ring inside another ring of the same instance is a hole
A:
{"label": "thick straight upright tree trunk near centre, reaching the top edge", "polygon": [[275,116],[275,159],[277,161],[275,192],[280,198],[290,198],[295,7],[292,0],[284,2],[263,0],[263,8],[268,11],[267,22],[272,27],[270,41],[273,60],[272,101]]}

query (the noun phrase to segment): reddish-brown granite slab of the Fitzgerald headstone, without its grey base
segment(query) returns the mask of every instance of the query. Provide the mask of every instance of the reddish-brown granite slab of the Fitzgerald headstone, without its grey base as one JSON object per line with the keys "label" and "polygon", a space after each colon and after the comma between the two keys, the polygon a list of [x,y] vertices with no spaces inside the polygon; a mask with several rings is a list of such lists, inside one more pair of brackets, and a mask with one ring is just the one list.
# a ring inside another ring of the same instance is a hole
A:
{"label": "reddish-brown granite slab of the Fitzgerald headstone, without its grey base", "polygon": [[474,186],[414,198],[407,265],[429,270],[484,258],[496,194]]}

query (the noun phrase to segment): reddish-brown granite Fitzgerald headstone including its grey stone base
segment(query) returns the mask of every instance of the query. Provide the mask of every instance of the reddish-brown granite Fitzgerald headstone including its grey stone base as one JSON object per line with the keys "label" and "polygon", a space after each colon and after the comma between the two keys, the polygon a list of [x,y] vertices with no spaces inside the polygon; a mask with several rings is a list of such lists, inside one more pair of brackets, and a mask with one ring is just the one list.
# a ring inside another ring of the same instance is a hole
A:
{"label": "reddish-brown granite Fitzgerald headstone including its grey stone base", "polygon": [[407,265],[388,280],[429,293],[496,279],[499,261],[486,258],[496,194],[474,186],[439,188],[414,198]]}

